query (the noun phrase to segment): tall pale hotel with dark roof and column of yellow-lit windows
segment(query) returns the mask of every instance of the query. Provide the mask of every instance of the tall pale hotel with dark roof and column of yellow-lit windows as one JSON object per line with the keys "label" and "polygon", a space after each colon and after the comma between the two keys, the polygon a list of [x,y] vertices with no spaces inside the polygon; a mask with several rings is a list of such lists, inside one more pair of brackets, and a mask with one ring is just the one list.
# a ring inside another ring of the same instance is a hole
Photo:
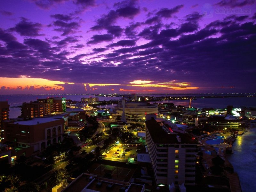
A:
{"label": "tall pale hotel with dark roof and column of yellow-lit windows", "polygon": [[146,121],[146,142],[157,185],[195,185],[197,143],[187,132],[152,118]]}

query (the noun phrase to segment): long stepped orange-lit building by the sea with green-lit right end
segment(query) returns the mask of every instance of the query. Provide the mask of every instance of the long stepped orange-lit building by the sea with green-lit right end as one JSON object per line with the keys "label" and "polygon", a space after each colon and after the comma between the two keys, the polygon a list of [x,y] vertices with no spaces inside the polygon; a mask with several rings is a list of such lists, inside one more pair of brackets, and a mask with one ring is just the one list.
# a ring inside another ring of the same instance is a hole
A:
{"label": "long stepped orange-lit building by the sea with green-lit right end", "polygon": [[53,112],[66,112],[66,98],[52,97],[37,99],[21,106],[21,117],[33,118],[43,117]]}

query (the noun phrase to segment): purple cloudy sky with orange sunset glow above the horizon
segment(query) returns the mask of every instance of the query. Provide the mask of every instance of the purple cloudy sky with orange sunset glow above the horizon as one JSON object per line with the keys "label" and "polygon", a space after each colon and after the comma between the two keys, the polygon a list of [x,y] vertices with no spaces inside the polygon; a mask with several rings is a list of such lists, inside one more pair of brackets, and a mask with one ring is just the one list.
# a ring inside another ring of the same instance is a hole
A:
{"label": "purple cloudy sky with orange sunset glow above the horizon", "polygon": [[255,0],[0,4],[0,94],[256,92]]}

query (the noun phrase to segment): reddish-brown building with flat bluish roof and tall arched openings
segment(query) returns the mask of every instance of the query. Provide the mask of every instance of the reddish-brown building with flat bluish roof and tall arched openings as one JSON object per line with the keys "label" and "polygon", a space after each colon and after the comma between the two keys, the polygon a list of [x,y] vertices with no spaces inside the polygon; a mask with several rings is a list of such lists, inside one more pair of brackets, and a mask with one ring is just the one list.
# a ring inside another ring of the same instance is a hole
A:
{"label": "reddish-brown building with flat bluish roof and tall arched openings", "polygon": [[41,151],[50,144],[61,142],[64,119],[33,118],[31,120],[6,120],[3,122],[4,141],[15,142],[16,148],[33,147]]}

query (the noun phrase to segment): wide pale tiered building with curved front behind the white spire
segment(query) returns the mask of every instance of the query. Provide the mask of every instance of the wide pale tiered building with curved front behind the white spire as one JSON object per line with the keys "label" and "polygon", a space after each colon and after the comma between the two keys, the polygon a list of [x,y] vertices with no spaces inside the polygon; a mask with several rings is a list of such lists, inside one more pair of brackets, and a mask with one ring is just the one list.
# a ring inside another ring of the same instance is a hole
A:
{"label": "wide pale tiered building with curved front behind the white spire", "polygon": [[[163,118],[163,114],[158,114],[158,104],[149,102],[125,102],[124,113],[126,121],[141,121],[146,114],[157,114],[157,118]],[[115,120],[120,120],[123,115],[123,104],[118,102],[111,116]]]}

